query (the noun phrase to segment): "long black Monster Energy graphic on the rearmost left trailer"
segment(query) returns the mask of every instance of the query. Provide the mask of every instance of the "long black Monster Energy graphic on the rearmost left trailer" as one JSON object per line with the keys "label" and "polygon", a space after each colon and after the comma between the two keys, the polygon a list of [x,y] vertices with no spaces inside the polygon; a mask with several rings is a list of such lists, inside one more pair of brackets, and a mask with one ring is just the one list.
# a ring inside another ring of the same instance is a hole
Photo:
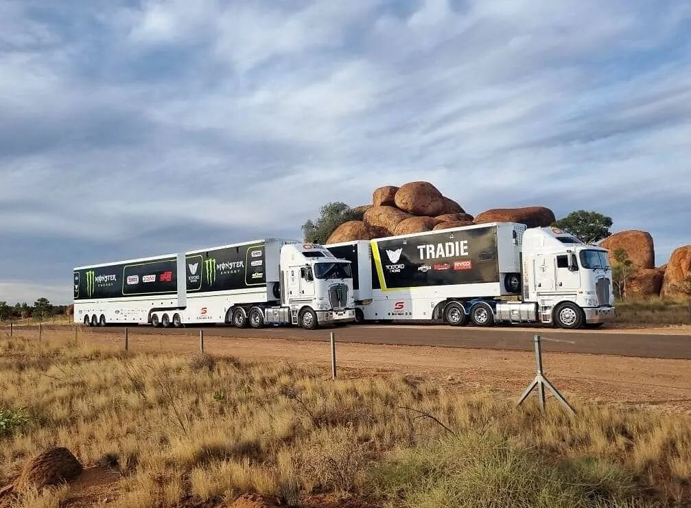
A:
{"label": "long black Monster Energy graphic on the rearmost left trailer", "polygon": [[174,257],[75,270],[75,300],[175,294],[177,277]]}

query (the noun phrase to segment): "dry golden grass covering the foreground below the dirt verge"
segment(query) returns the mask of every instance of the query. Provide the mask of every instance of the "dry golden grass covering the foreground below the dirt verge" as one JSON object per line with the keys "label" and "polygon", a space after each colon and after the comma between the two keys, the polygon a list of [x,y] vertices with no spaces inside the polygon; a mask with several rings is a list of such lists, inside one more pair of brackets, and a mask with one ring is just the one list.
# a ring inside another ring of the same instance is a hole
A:
{"label": "dry golden grass covering the foreground below the dirt verge", "polygon": [[[26,416],[0,439],[0,485],[30,455],[66,446],[122,472],[108,503],[120,507],[245,492],[288,506],[319,492],[420,508],[691,502],[685,415],[591,404],[576,418],[540,415],[403,376],[331,382],[319,368],[21,337],[0,339],[0,353],[0,409]],[[64,496],[14,506],[68,506]]]}

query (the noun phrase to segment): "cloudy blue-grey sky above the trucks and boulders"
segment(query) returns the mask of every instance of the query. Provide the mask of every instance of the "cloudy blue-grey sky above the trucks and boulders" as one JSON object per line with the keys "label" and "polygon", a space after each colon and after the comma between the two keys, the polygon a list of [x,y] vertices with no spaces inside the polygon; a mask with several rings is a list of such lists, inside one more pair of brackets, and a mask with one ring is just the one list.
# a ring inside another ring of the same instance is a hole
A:
{"label": "cloudy blue-grey sky above the trucks and boulders", "polygon": [[0,301],[381,185],[691,243],[691,3],[0,2]]}

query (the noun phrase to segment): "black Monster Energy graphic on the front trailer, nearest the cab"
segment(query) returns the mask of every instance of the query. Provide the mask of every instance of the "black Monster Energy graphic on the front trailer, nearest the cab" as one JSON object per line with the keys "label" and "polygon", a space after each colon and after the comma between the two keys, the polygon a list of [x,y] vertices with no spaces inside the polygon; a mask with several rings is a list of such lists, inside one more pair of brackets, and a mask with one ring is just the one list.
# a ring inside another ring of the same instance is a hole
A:
{"label": "black Monster Energy graphic on the front trailer, nearest the cab", "polygon": [[187,254],[187,292],[241,290],[266,284],[264,243]]}

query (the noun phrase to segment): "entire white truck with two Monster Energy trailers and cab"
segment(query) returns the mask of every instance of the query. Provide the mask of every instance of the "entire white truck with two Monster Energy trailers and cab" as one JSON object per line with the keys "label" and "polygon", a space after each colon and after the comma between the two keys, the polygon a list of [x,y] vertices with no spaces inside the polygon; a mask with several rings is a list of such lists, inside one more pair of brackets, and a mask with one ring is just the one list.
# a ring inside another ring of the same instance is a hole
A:
{"label": "entire white truck with two Monster Energy trailers and cab", "polygon": [[75,322],[87,326],[231,323],[302,326],[354,320],[350,261],[274,238],[74,269]]}

